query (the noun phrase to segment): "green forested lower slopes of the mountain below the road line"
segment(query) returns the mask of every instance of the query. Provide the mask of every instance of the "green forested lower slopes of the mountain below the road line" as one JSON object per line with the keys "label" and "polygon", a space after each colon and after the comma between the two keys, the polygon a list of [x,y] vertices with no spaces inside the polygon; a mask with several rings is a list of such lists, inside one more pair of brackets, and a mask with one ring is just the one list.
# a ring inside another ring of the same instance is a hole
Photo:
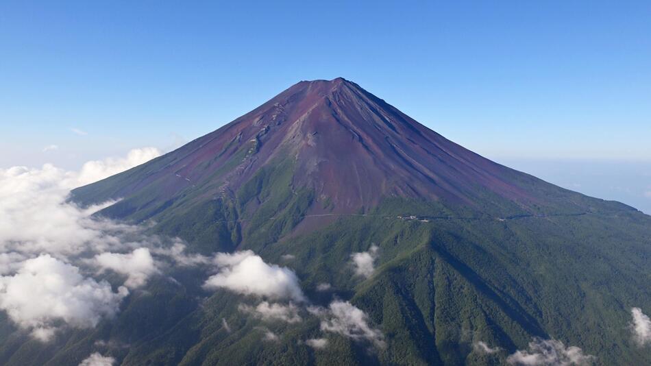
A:
{"label": "green forested lower slopes of the mountain below the road line", "polygon": [[[321,337],[316,317],[303,313],[299,324],[254,319],[237,310],[254,298],[207,293],[199,286],[205,276],[176,273],[179,284],[158,278],[129,297],[116,319],[69,331],[56,345],[3,333],[0,356],[7,365],[62,365],[97,349],[95,341],[111,339],[106,350],[125,365],[485,365],[503,363],[539,336],[577,345],[602,365],[651,362],[627,328],[630,308],[648,311],[651,304],[648,216],[604,210],[424,222],[398,219],[391,213],[396,206],[432,210],[431,203],[390,200],[367,216],[342,217],[310,234],[240,246],[295,269],[314,304],[339,297],[363,309],[384,333],[384,349],[369,351],[368,343],[328,333],[330,346],[312,350],[300,341]],[[248,230],[245,237],[257,238]],[[354,276],[350,254],[373,243],[380,247],[376,273]],[[283,254],[294,258],[283,262]],[[320,282],[332,291],[315,291]],[[265,330],[258,327],[280,334],[280,341],[262,341]],[[473,352],[476,341],[504,351]]]}

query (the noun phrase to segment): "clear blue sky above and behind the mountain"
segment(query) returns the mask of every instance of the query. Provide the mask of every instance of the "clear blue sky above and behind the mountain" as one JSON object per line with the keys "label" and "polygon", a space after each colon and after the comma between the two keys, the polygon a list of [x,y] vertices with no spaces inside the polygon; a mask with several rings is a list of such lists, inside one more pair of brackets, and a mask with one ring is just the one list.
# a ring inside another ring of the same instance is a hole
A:
{"label": "clear blue sky above and behind the mountain", "polygon": [[649,1],[3,1],[0,167],[171,149],[338,76],[498,161],[646,167],[649,19]]}

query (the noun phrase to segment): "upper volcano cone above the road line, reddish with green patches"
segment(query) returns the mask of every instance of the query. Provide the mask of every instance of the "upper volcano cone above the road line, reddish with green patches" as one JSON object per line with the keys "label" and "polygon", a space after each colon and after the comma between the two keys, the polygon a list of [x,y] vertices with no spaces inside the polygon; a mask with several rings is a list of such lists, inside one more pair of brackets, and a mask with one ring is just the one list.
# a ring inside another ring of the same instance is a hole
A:
{"label": "upper volcano cone above the road line, reddish with green patches", "polygon": [[[73,197],[82,204],[121,199],[102,214],[154,219],[204,252],[235,249],[247,241],[241,234],[254,234],[251,227],[273,226],[273,242],[391,198],[430,202],[422,213],[432,217],[628,210],[482,158],[342,78],[299,82],[219,130]],[[190,226],[194,233],[185,232]]]}

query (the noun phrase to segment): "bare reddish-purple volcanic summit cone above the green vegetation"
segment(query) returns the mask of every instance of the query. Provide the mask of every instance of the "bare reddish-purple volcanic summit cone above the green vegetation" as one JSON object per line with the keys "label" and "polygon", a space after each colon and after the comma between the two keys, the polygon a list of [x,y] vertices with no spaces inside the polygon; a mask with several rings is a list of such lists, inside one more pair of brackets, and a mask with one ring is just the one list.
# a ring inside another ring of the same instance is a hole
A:
{"label": "bare reddish-purple volcanic summit cone above the green vegetation", "polygon": [[500,178],[504,167],[342,78],[299,82],[200,141],[173,164],[181,175],[201,180],[210,175],[197,169],[202,162],[221,154],[212,163],[217,168],[241,145],[254,144],[257,153],[238,167],[231,189],[278,154],[291,154],[295,186],[315,188],[317,198],[330,197],[340,209],[373,206],[386,195],[465,199],[476,184],[506,197],[525,195]]}

